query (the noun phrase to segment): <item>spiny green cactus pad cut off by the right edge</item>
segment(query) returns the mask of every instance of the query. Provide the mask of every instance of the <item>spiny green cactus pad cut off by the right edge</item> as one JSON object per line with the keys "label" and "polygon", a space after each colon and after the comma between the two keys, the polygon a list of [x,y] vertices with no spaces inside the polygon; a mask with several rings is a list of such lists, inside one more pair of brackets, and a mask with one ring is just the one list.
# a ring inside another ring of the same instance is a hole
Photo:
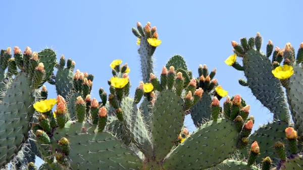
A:
{"label": "spiny green cactus pad cut off by the right edge", "polygon": [[300,136],[300,140],[303,137],[303,108],[302,108],[302,100],[303,100],[303,69],[298,66],[293,66],[294,73],[289,80],[287,81],[286,86],[286,95],[288,99],[288,103],[290,105],[290,111],[292,114],[292,118],[295,124],[295,128],[298,131],[298,136]]}

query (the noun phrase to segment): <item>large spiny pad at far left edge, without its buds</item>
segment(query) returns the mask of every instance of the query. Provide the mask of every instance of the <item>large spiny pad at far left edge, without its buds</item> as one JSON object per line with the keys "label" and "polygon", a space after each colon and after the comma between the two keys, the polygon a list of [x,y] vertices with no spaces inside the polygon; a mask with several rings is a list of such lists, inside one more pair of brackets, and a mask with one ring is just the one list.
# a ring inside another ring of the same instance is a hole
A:
{"label": "large spiny pad at far left edge, without its buds", "polygon": [[20,72],[11,83],[0,104],[0,166],[8,163],[28,137],[34,109],[32,80]]}

